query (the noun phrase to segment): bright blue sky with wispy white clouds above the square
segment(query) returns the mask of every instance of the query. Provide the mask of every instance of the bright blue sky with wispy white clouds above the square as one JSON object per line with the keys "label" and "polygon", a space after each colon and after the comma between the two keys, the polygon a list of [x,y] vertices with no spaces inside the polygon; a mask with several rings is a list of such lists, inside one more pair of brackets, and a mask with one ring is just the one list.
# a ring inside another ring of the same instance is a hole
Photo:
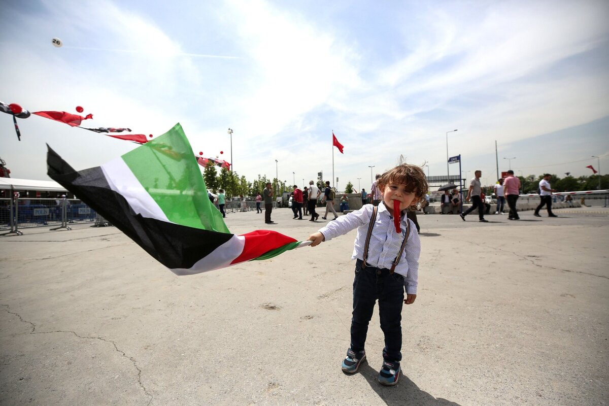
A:
{"label": "bright blue sky with wispy white clouds above the square", "polygon": [[[249,181],[302,186],[323,171],[339,191],[369,190],[401,157],[445,176],[447,148],[487,185],[510,168],[606,174],[607,21],[605,0],[3,0],[0,100],[82,106],[85,127],[154,136],[179,122],[194,154]],[[0,116],[14,178],[49,179],[46,144],[77,170],[137,146],[33,115],[18,124],[21,141]]]}

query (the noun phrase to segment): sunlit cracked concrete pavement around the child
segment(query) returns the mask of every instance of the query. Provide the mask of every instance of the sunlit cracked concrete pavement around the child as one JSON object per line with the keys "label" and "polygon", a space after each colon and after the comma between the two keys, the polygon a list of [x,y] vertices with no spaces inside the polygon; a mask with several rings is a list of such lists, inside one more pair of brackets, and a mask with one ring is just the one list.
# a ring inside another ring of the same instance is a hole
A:
{"label": "sunlit cracked concrete pavement around the child", "polygon": [[[368,363],[340,371],[354,232],[175,276],[113,227],[23,229],[0,239],[0,404],[605,405],[609,210],[556,213],[419,216],[419,291],[391,388],[376,382],[376,312]],[[323,225],[272,218],[227,225],[300,240]]]}

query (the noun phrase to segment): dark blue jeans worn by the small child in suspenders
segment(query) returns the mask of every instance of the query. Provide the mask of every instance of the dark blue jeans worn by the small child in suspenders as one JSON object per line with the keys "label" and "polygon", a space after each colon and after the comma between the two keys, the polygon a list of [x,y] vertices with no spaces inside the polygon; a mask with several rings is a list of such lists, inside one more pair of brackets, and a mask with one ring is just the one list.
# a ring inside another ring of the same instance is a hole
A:
{"label": "dark blue jeans worn by the small child in suspenders", "polygon": [[357,259],[353,280],[353,317],[351,318],[351,349],[365,348],[368,323],[376,301],[379,301],[381,330],[385,334],[383,358],[400,362],[402,359],[402,306],[404,305],[404,277],[389,269],[367,265]]}

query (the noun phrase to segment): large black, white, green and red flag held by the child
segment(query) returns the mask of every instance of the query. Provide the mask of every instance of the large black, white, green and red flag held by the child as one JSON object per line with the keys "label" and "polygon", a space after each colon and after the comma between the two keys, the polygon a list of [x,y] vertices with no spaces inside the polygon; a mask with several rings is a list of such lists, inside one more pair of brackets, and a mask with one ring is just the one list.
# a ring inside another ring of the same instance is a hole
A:
{"label": "large black, white, green and red flag held by the child", "polygon": [[269,230],[228,231],[180,124],[100,167],[76,172],[54,150],[48,175],[177,275],[268,259],[298,247]]}

